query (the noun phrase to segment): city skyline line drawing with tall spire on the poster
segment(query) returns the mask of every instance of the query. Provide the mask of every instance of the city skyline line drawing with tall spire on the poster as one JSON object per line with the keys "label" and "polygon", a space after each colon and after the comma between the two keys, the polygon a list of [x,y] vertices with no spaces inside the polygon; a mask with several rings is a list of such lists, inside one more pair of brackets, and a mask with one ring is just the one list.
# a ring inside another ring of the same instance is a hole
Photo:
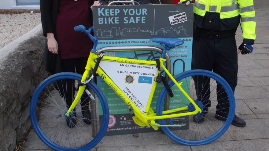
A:
{"label": "city skyline line drawing with tall spire on the poster", "polygon": [[[123,28],[123,27],[111,27],[111,29],[98,29],[95,32],[95,37],[99,40],[109,40],[109,39],[140,39],[140,38],[152,38],[152,37],[192,37],[186,33],[183,26],[175,27],[161,27],[156,29],[155,20],[155,9],[153,17],[153,26],[151,29],[142,29],[142,27],[137,28]],[[170,25],[170,24],[169,24]]]}

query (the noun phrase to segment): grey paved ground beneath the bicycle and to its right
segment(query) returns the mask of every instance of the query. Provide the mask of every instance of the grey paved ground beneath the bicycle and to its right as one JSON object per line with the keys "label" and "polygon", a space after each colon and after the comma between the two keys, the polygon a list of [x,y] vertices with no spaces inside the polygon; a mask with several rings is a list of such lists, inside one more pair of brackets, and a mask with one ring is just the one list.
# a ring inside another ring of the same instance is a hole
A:
{"label": "grey paved ground beneath the bicycle and to its right", "polygon": [[[238,55],[238,86],[235,89],[236,114],[247,125],[233,125],[228,131],[208,145],[182,146],[161,132],[133,135],[106,136],[92,150],[269,150],[269,18],[267,0],[254,0],[256,11],[256,41],[249,55]],[[237,43],[241,44],[241,29],[237,31]],[[23,150],[50,150],[35,132],[30,131]]]}

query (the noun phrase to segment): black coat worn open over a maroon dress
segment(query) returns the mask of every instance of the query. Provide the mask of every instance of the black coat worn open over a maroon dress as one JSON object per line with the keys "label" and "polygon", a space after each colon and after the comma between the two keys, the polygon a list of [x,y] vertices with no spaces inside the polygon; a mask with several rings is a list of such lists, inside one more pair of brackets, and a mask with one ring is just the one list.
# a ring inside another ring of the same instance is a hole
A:
{"label": "black coat worn open over a maroon dress", "polygon": [[[93,5],[94,0],[89,0],[90,16],[92,11],[90,6]],[[56,20],[57,20],[58,0],[40,0],[40,13],[41,23],[43,29],[43,35],[46,37],[47,33],[53,33],[55,39],[56,35]],[[91,24],[93,25],[93,19],[91,17]],[[46,71],[55,74],[61,72],[61,56],[60,54],[53,54],[49,51],[47,41],[43,53],[42,63]]]}

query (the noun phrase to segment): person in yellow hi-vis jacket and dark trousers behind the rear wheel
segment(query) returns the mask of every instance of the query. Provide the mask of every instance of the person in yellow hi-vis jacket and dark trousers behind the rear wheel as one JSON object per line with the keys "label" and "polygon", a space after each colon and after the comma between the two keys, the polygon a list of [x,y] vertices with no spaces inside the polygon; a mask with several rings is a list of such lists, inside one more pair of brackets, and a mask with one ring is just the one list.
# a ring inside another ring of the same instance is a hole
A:
{"label": "person in yellow hi-vis jacket and dark trousers behind the rear wheel", "polygon": [[[181,0],[178,4],[189,5],[190,3],[191,0]],[[210,70],[219,74],[234,92],[237,85],[238,54],[251,53],[256,38],[253,0],[195,0],[193,12],[191,68]],[[235,32],[239,23],[243,42],[237,49]],[[209,87],[209,83],[196,83],[196,89],[207,90],[205,87]],[[220,95],[218,95],[215,118],[226,120],[229,104],[227,99],[221,99],[225,98],[222,96],[224,94],[221,94],[221,88],[217,88],[217,92]],[[203,102],[204,110],[198,117],[193,116],[193,120],[197,123],[204,122],[208,107],[211,106],[210,91],[202,93],[208,93],[205,95],[208,97],[198,98]],[[244,127],[246,122],[234,115],[232,124]]]}

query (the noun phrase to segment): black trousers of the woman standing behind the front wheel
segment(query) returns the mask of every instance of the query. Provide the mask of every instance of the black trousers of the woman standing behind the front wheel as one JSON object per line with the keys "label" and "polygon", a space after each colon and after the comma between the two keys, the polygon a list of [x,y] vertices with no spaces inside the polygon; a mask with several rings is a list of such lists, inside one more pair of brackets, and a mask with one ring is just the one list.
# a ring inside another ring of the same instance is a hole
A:
{"label": "black trousers of the woman standing behind the front wheel", "polygon": [[[72,58],[72,59],[61,59],[61,69],[62,72],[76,72],[78,74],[83,74],[87,64],[88,57],[83,58]],[[75,81],[57,81],[59,87],[59,92],[62,97],[66,100],[66,105],[69,108],[74,100],[75,96]],[[88,106],[90,98],[86,93],[83,93],[81,97],[81,106]]]}

